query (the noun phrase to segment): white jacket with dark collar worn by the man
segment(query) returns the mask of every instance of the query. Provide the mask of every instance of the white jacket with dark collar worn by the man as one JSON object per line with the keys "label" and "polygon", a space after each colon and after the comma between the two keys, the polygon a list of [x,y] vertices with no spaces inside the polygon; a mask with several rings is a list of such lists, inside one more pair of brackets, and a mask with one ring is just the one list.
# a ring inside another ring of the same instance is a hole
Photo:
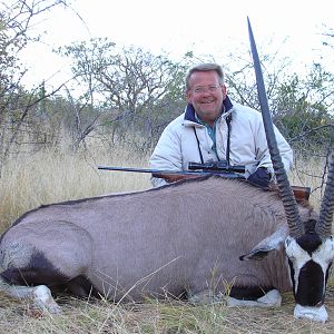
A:
{"label": "white jacket with dark collar worn by the man", "polygon": [[[150,157],[150,168],[159,170],[187,170],[188,164],[200,163],[197,134],[204,163],[226,159],[227,124],[226,115],[232,115],[229,164],[245,165],[245,177],[258,167],[266,167],[274,175],[262,115],[249,107],[224,100],[225,112],[216,122],[216,150],[205,126],[198,124],[191,105],[184,114],[174,119],[163,131]],[[286,171],[293,164],[293,151],[278,129],[274,126],[276,140]],[[165,185],[163,178],[151,178],[154,186]]]}

